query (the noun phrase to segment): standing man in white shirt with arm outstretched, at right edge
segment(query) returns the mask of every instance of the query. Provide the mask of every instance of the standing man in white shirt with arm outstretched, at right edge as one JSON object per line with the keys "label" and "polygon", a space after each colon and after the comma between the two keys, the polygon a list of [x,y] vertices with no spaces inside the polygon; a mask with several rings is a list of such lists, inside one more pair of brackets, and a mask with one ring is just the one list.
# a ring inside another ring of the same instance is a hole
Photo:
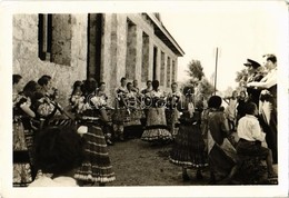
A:
{"label": "standing man in white shirt with arm outstretched, at right edge", "polygon": [[260,123],[266,135],[268,148],[272,150],[273,164],[278,162],[277,149],[277,58],[275,55],[267,55],[265,67],[268,69],[259,82],[250,82],[248,88],[261,91],[259,113]]}

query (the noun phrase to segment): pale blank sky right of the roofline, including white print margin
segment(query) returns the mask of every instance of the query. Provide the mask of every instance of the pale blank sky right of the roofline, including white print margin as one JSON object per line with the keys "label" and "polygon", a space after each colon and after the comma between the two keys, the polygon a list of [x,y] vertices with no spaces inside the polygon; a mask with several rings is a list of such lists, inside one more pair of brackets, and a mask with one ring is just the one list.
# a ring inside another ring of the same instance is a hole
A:
{"label": "pale blank sky right of the roofline, including white print margin", "polygon": [[210,80],[218,48],[217,89],[225,91],[237,86],[236,72],[246,68],[247,58],[262,63],[262,55],[280,58],[288,49],[283,1],[187,1],[176,6],[176,11],[167,9],[160,14],[186,53],[178,59],[178,81],[188,79],[185,70],[192,59],[200,60]]}

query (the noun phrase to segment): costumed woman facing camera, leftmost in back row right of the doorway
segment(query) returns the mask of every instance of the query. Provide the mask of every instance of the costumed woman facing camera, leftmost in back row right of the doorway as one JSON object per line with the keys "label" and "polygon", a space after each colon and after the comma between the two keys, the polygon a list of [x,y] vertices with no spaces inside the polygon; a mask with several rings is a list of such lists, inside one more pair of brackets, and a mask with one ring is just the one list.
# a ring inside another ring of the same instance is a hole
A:
{"label": "costumed woman facing camera, leftmost in back row right of the doorway", "polygon": [[128,119],[128,109],[127,109],[127,101],[126,101],[126,95],[128,92],[127,90],[127,79],[124,77],[120,80],[120,87],[116,89],[116,108],[114,113],[112,116],[112,122],[113,122],[113,131],[116,139],[119,139],[120,141],[124,140],[123,137],[123,130],[124,130],[124,121]]}

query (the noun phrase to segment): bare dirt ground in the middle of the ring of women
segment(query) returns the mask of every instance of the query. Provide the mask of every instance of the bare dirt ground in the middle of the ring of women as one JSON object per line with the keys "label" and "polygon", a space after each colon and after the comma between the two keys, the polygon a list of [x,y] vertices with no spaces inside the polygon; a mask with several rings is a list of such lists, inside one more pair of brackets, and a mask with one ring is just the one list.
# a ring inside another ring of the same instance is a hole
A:
{"label": "bare dirt ground in the middle of the ring of women", "polygon": [[[171,143],[152,146],[132,138],[108,148],[117,179],[107,186],[205,186],[210,179],[209,168],[202,170],[201,180],[197,180],[195,169],[189,169],[190,180],[182,181],[181,167],[169,161]],[[277,165],[275,169],[278,171]]]}

